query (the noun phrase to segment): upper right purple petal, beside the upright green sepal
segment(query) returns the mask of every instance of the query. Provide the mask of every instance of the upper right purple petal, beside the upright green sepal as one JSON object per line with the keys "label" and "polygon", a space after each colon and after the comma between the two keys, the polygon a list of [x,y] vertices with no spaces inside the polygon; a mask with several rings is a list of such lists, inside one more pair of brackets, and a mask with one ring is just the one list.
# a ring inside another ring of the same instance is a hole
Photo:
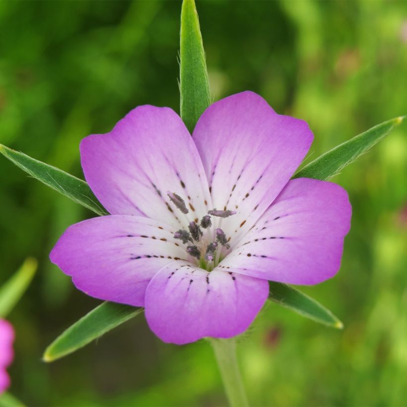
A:
{"label": "upper right purple petal, beside the upright green sepal", "polygon": [[220,226],[233,243],[283,189],[313,135],[306,122],[277,115],[261,96],[243,92],[209,106],[193,138],[214,207],[237,211]]}

